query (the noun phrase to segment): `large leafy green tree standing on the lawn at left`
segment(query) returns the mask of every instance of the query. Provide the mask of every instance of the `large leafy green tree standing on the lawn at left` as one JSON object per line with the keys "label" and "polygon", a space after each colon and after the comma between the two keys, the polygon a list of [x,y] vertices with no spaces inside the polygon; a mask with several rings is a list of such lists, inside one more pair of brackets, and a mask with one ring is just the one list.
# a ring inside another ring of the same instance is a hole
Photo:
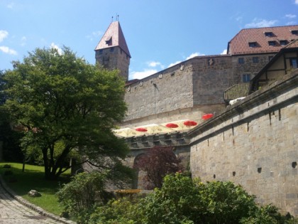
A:
{"label": "large leafy green tree standing on the lawn at left", "polygon": [[4,110],[23,127],[21,145],[43,154],[45,177],[55,179],[77,151],[102,169],[121,170],[128,153],[111,131],[126,112],[124,81],[118,72],[97,68],[70,48],[37,48],[4,73]]}

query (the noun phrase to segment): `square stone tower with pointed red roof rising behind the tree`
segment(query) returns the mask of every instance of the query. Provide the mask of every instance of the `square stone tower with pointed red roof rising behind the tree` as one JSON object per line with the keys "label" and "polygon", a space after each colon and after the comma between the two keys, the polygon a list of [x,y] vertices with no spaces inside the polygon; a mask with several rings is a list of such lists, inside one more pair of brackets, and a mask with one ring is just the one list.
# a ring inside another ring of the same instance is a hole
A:
{"label": "square stone tower with pointed red roof rising behind the tree", "polygon": [[109,70],[118,69],[128,80],[128,67],[131,60],[119,21],[114,21],[102,36],[95,48],[96,63]]}

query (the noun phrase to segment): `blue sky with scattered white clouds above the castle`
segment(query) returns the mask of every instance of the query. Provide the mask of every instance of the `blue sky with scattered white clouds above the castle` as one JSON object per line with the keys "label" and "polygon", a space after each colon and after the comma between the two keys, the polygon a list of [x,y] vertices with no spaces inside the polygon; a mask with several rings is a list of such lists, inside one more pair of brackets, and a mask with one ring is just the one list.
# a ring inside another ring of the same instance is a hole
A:
{"label": "blue sky with scattered white clouds above the castle", "polygon": [[0,0],[0,70],[35,48],[94,48],[118,14],[131,52],[129,79],[195,55],[224,53],[243,28],[298,24],[298,0]]}

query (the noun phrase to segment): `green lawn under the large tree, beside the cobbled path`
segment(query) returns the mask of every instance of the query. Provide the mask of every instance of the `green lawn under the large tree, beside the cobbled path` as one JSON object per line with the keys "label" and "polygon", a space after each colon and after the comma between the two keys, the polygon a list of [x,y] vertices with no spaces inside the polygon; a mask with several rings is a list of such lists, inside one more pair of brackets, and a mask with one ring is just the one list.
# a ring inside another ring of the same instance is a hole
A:
{"label": "green lawn under the large tree, beside the cobbled path", "polygon": [[[11,168],[4,168],[5,164],[11,165]],[[60,215],[63,209],[59,205],[55,193],[59,190],[62,183],[66,183],[69,180],[70,172],[62,174],[59,181],[48,181],[45,180],[43,166],[26,164],[24,172],[22,172],[22,167],[23,164],[0,163],[0,174],[4,178],[6,185],[16,192],[18,196],[50,213]],[[31,190],[40,192],[42,196],[38,198],[29,197],[28,192]]]}

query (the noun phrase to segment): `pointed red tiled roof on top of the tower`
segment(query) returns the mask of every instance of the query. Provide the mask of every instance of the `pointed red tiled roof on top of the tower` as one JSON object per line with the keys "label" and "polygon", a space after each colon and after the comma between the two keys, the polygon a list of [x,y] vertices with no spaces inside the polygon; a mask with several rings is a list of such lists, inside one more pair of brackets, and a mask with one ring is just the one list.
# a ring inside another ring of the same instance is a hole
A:
{"label": "pointed red tiled roof on top of the tower", "polygon": [[121,48],[131,58],[131,53],[129,53],[119,21],[114,21],[110,24],[95,50],[111,47]]}

